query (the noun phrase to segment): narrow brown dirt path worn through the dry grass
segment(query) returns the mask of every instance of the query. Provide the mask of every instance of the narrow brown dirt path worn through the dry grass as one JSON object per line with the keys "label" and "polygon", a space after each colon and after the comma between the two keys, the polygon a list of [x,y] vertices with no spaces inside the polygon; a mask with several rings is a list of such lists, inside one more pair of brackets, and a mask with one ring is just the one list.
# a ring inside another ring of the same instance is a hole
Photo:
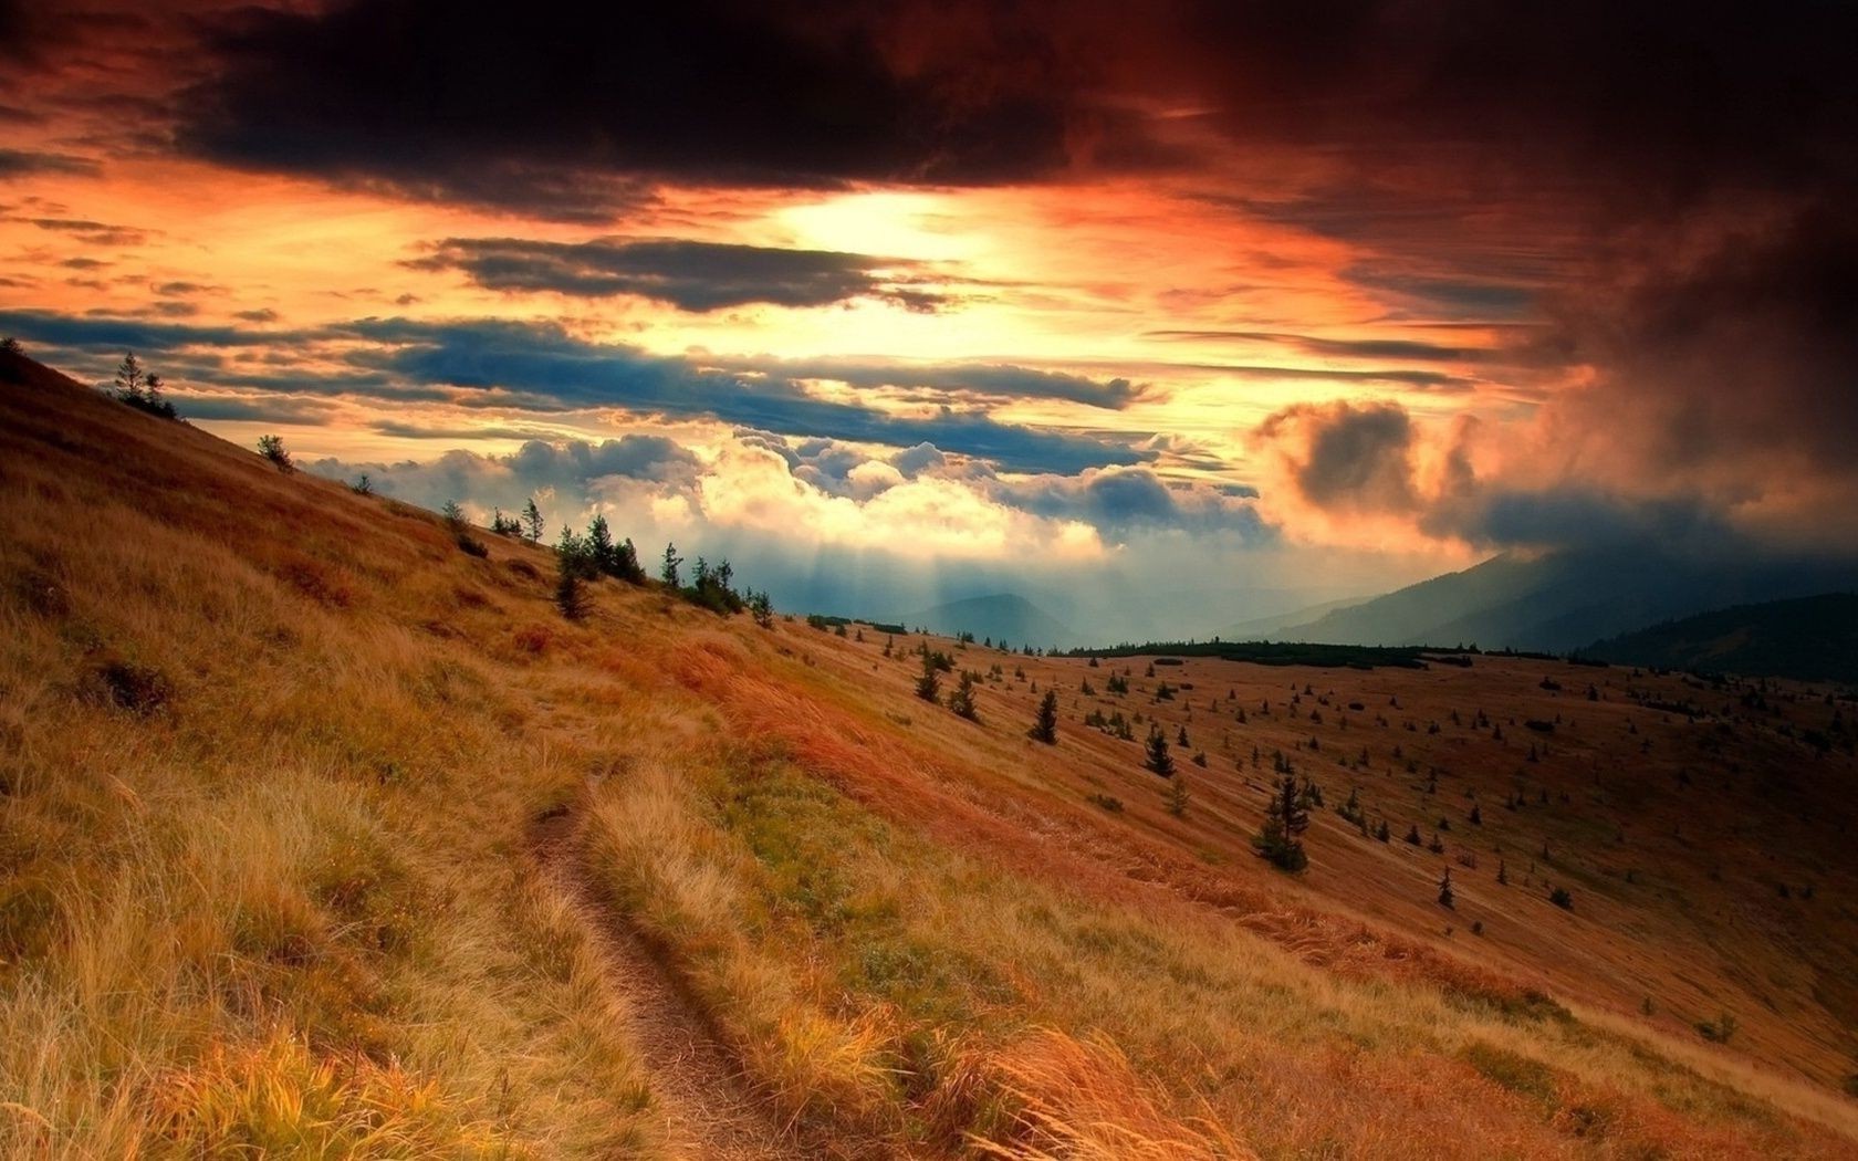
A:
{"label": "narrow brown dirt path worn through the dry grass", "polygon": [[574,812],[535,823],[531,851],[548,882],[569,899],[606,964],[604,986],[626,1014],[645,1057],[652,1096],[665,1116],[673,1157],[762,1161],[806,1157],[754,1103],[728,1053],[622,914],[593,890],[574,856]]}

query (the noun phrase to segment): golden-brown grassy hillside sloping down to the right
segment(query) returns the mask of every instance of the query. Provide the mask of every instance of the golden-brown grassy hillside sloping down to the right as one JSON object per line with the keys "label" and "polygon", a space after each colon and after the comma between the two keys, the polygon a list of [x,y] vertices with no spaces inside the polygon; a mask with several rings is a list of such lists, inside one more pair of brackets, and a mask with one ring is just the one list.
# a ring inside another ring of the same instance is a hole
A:
{"label": "golden-brown grassy hillside sloping down to the right", "polygon": [[6,353],[0,502],[4,1155],[1858,1155],[1823,689],[570,622]]}

